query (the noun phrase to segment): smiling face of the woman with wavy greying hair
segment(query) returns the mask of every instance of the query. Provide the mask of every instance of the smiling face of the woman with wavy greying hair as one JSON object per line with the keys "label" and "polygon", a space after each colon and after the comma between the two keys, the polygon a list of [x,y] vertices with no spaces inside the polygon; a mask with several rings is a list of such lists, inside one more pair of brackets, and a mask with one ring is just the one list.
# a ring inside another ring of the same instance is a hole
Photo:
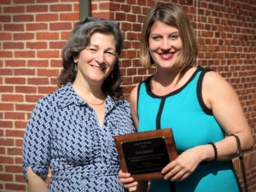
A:
{"label": "smiling face of the woman with wavy greying hair", "polygon": [[90,37],[90,43],[83,49],[78,58],[76,81],[103,83],[112,72],[116,61],[115,39],[112,34],[100,32]]}

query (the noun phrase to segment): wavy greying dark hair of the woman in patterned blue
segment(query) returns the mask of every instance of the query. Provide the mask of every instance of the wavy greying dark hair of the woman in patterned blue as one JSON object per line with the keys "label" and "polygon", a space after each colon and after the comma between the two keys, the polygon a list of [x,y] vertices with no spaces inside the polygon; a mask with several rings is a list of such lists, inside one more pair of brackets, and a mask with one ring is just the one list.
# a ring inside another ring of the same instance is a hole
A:
{"label": "wavy greying dark hair of the woman in patterned blue", "polygon": [[123,96],[120,87],[122,74],[119,70],[119,55],[123,47],[123,35],[119,29],[119,24],[113,20],[105,20],[95,17],[87,17],[79,22],[69,35],[66,46],[62,49],[62,67],[58,78],[58,86],[61,87],[67,82],[73,83],[77,75],[77,63],[73,58],[79,57],[80,52],[90,43],[90,37],[95,32],[113,34],[115,39],[116,60],[113,72],[108,75],[102,84],[102,91],[111,96],[115,101]]}

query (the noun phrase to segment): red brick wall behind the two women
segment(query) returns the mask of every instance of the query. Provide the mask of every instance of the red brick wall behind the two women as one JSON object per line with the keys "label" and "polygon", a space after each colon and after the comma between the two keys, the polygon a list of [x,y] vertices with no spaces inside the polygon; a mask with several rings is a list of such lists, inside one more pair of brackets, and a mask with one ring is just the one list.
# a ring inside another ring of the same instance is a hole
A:
{"label": "red brick wall behind the two women", "polygon": [[[91,3],[92,15],[118,20],[125,44],[120,67],[128,98],[154,68],[138,61],[145,13],[153,0]],[[162,3],[164,1],[157,1]],[[254,137],[246,153],[249,191],[256,191],[256,3],[255,0],[173,0],[193,21],[200,44],[198,64],[221,73],[236,89]],[[79,20],[79,0],[0,0],[0,191],[26,191],[21,145],[26,122],[40,96],[57,89],[61,48]],[[240,166],[235,160],[241,176]]]}

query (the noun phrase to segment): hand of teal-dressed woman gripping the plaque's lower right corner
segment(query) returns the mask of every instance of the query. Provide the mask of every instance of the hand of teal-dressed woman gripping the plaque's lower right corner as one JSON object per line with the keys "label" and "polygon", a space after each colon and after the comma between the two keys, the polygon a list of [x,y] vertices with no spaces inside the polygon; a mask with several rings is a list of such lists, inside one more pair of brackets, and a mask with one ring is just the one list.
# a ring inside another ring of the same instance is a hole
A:
{"label": "hand of teal-dressed woman gripping the plaque's lower right corner", "polygon": [[165,175],[165,179],[171,181],[182,181],[186,177],[195,171],[195,168],[201,163],[202,155],[201,148],[198,146],[195,148],[189,148],[180,154],[176,160],[172,160],[167,166],[162,169],[162,174]]}

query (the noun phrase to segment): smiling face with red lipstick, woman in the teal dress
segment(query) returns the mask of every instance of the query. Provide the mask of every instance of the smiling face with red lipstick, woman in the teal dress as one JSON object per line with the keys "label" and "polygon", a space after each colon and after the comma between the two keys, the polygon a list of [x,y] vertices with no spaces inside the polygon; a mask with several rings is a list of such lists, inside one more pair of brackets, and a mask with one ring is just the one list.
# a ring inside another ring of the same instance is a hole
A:
{"label": "smiling face with red lipstick, woman in the teal dress", "polygon": [[177,28],[156,21],[151,27],[148,44],[157,67],[171,68],[180,60],[183,44]]}

